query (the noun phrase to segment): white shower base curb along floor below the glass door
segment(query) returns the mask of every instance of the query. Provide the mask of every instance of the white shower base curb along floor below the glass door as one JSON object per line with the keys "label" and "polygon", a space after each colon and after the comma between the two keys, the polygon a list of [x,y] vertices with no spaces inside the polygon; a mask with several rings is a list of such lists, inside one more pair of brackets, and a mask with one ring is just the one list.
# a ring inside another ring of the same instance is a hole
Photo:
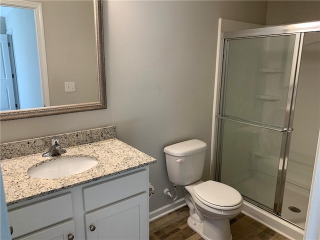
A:
{"label": "white shower base curb along floor below the glass door", "polygon": [[242,213],[278,232],[286,238],[295,240],[303,238],[304,231],[301,228],[290,224],[280,217],[274,216],[273,214],[264,211],[247,201],[243,201]]}

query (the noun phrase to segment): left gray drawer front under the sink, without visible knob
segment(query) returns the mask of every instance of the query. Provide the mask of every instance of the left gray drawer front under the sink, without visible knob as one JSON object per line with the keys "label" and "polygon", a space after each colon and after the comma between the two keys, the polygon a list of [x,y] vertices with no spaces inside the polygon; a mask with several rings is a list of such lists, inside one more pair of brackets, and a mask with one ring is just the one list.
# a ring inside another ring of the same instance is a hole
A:
{"label": "left gray drawer front under the sink, without visible knob", "polygon": [[72,217],[71,193],[52,197],[8,211],[12,238]]}

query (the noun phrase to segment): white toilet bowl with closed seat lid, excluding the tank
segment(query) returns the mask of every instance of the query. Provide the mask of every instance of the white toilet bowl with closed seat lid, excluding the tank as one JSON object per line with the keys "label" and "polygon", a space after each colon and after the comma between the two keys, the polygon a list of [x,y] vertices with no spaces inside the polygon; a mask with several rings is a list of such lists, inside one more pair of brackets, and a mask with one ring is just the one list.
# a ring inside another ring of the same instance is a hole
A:
{"label": "white toilet bowl with closed seat lid, excluding the tank", "polygon": [[[197,181],[184,188],[187,191],[184,199],[190,209],[188,226],[205,240],[232,239],[229,219],[242,210],[240,193],[228,185],[212,180]],[[223,190],[220,191],[221,189]]]}

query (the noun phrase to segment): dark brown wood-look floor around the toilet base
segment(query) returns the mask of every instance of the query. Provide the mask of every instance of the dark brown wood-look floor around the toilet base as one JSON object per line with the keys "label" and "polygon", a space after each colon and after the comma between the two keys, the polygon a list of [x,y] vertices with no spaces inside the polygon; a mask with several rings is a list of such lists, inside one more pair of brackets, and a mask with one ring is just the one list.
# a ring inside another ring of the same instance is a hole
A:
{"label": "dark brown wood-look floor around the toilet base", "polygon": [[[150,223],[150,240],[200,240],[186,220],[189,208],[184,206]],[[233,240],[285,240],[284,236],[240,213],[230,220]]]}

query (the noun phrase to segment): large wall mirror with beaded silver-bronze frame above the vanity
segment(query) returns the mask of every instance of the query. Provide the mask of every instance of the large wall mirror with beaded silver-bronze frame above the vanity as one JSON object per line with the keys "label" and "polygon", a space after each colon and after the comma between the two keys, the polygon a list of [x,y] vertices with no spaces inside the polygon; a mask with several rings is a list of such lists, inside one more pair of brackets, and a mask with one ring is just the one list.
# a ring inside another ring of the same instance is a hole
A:
{"label": "large wall mirror with beaded silver-bronze frame above the vanity", "polygon": [[[0,120],[106,108],[102,0],[0,6]],[[26,18],[16,19],[27,15],[35,21],[21,26]]]}

